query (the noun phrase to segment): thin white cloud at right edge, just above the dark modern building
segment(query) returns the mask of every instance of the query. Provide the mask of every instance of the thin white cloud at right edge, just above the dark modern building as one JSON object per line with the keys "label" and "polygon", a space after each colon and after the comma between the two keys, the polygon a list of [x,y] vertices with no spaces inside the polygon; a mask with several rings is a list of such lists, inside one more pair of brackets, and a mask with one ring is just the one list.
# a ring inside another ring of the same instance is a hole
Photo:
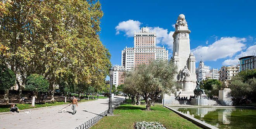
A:
{"label": "thin white cloud at right edge, just above the dark modern building", "polygon": [[237,65],[240,57],[254,55],[255,52],[256,52],[256,45],[250,46],[244,52],[240,52],[240,54],[236,55],[234,58],[227,59],[224,62],[222,62],[222,65]]}

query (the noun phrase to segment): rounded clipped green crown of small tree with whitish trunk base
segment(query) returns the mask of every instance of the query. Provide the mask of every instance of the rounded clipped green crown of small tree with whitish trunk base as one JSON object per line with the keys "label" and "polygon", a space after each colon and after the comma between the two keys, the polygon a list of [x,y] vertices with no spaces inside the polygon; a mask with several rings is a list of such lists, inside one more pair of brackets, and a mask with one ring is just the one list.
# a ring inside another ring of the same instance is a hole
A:
{"label": "rounded clipped green crown of small tree with whitish trunk base", "polygon": [[25,84],[25,89],[30,91],[47,92],[49,88],[48,80],[46,80],[42,75],[38,74],[29,75]]}

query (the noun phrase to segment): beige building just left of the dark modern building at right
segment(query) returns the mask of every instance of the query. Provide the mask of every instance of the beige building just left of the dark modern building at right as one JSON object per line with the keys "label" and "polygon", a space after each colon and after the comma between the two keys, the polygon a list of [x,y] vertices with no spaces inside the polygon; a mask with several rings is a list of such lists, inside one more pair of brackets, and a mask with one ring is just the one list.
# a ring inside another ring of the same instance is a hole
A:
{"label": "beige building just left of the dark modern building at right", "polygon": [[219,80],[220,81],[231,80],[231,78],[237,75],[239,71],[240,71],[239,65],[222,66],[221,69],[219,70]]}

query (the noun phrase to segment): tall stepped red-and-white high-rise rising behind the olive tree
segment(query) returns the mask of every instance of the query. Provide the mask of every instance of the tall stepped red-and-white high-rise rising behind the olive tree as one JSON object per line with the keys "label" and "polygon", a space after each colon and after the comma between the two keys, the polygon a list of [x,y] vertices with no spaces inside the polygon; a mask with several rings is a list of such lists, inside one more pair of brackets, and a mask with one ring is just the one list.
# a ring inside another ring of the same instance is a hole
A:
{"label": "tall stepped red-and-white high-rise rising behind the olive tree", "polygon": [[168,50],[156,46],[156,32],[149,32],[149,27],[142,27],[134,33],[134,47],[122,50],[122,66],[130,71],[139,64],[148,64],[157,58],[168,59]]}

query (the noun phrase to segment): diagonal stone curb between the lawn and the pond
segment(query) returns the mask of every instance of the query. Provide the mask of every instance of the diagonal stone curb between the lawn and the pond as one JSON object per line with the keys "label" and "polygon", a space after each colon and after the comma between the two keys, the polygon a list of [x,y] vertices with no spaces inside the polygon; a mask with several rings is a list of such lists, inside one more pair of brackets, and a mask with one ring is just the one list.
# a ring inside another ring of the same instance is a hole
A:
{"label": "diagonal stone curb between the lawn and the pond", "polygon": [[173,111],[173,112],[175,112],[176,114],[182,116],[183,118],[185,118],[185,119],[187,119],[187,120],[189,120],[189,121],[191,121],[191,122],[197,124],[198,126],[203,127],[204,129],[219,129],[219,128],[214,127],[214,126],[212,126],[212,125],[210,125],[210,124],[207,124],[206,122],[202,122],[202,121],[200,121],[200,120],[198,120],[198,119],[195,119],[195,118],[192,117],[192,116],[189,116],[189,115],[184,114],[184,113],[182,113],[182,112],[180,112],[180,111],[177,111],[177,110],[175,110],[175,109],[172,109],[172,108],[170,108],[170,107],[168,107],[168,106],[164,106],[164,107],[166,107],[167,109],[170,109],[171,111]]}

